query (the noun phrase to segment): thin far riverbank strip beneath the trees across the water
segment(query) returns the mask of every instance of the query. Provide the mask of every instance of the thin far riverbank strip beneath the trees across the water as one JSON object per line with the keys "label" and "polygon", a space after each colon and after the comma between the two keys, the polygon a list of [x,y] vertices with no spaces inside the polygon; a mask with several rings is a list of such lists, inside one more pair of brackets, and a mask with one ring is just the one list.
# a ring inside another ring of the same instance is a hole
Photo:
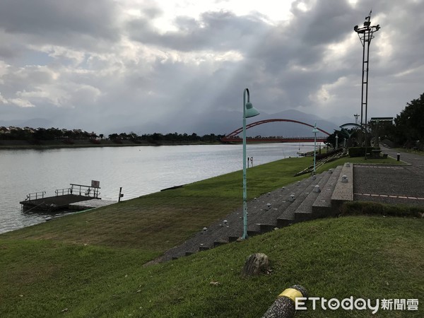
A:
{"label": "thin far riverbank strip beneath the trees across the water", "polygon": [[102,139],[96,141],[90,140],[74,140],[71,143],[64,141],[25,141],[25,140],[0,140],[1,149],[54,149],[54,148],[88,148],[88,147],[126,147],[126,146],[184,146],[184,145],[212,145],[222,144],[220,141],[112,141]]}

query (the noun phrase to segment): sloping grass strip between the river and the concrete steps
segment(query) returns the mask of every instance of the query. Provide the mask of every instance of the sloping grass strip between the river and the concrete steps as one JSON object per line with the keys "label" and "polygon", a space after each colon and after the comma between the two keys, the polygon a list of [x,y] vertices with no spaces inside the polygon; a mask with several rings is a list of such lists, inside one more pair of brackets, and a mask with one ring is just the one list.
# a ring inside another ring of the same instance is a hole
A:
{"label": "sloping grass strip between the river and the concrete steps", "polygon": [[[249,168],[249,198],[301,179],[291,176],[310,160],[290,158]],[[152,252],[161,253],[238,208],[242,204],[241,181],[242,173],[232,172],[6,233],[4,237],[54,239],[108,247],[148,247]]]}

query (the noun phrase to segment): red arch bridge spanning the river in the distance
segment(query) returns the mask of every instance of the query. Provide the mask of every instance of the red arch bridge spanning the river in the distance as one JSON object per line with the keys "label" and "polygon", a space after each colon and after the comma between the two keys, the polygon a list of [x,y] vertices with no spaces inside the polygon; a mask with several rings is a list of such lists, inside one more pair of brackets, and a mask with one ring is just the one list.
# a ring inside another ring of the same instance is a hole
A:
{"label": "red arch bridge spanning the river in the distance", "polygon": [[[252,122],[251,124],[247,124],[246,129],[252,128],[254,126],[259,126],[261,124],[268,124],[269,122],[294,122],[295,124],[302,124],[302,125],[310,126],[310,127],[314,128],[314,126],[311,125],[311,124],[307,124],[305,122],[299,122],[298,120],[293,120],[293,119],[264,119],[264,120],[259,120],[259,122]],[[322,133],[324,133],[326,136],[330,135],[328,132],[326,132],[323,129],[320,129],[319,127],[317,127],[317,129],[319,131],[321,131]],[[235,129],[235,131],[232,131],[227,136],[224,136],[221,139],[221,141],[241,143],[243,140],[240,136],[238,136],[238,134],[240,134],[242,131],[243,131],[243,127],[240,127],[239,129]],[[326,136],[324,136],[324,137],[317,136],[317,142],[325,142]],[[257,143],[264,143],[264,142],[277,142],[277,143],[298,143],[298,142],[302,142],[302,143],[307,143],[307,142],[313,142],[314,136],[312,136],[312,137],[264,137],[264,138],[249,137],[249,138],[247,138],[247,141],[257,142]]]}

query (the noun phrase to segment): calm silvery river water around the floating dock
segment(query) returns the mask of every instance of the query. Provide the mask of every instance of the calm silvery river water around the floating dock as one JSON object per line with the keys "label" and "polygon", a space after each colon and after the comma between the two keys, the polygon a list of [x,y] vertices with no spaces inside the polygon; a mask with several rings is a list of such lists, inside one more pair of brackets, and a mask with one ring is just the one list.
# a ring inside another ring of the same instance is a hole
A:
{"label": "calm silvery river water around the floating dock", "polygon": [[[247,145],[254,165],[312,151],[309,143]],[[44,222],[64,213],[31,213],[21,210],[31,192],[55,189],[70,183],[90,185],[100,181],[100,197],[117,201],[158,192],[175,185],[207,179],[242,169],[242,145],[132,146],[0,151],[0,233]]]}

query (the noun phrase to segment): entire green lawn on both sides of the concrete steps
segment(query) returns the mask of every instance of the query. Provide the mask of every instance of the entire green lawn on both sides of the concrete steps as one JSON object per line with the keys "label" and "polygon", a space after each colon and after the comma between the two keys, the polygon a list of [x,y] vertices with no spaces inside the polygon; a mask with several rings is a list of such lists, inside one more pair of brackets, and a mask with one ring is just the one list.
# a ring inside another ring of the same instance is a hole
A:
{"label": "entire green lawn on both sides of the concrete steps", "polygon": [[[249,198],[301,179],[292,176],[310,160],[250,168]],[[353,162],[321,169],[343,161]],[[233,172],[0,235],[0,317],[261,317],[295,283],[328,299],[422,301],[423,219],[315,220],[143,266],[241,206],[241,179]],[[269,255],[271,275],[240,277],[253,252]],[[348,314],[308,310],[298,317]]]}

